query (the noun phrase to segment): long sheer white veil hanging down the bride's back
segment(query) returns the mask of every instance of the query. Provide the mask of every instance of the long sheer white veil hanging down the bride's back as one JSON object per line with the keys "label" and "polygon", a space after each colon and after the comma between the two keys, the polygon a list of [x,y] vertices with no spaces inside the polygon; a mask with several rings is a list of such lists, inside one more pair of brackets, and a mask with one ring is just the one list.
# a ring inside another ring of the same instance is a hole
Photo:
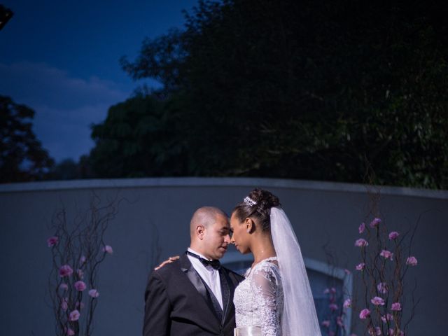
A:
{"label": "long sheer white veil hanging down the bride's back", "polygon": [[321,336],[307,270],[293,227],[285,212],[271,209],[271,234],[283,285],[283,336]]}

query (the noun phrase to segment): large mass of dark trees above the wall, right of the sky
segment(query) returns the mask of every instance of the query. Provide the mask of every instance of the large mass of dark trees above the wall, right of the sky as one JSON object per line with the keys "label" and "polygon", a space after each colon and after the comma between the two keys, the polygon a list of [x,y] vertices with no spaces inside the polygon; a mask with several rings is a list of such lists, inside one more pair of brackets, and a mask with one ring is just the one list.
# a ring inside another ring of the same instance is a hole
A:
{"label": "large mass of dark trees above the wall, right of the sky", "polygon": [[[362,182],[372,168],[376,183],[448,188],[447,36],[430,3],[199,1],[185,29],[122,59],[163,87],[111,109],[92,159],[104,176]],[[142,99],[158,107],[131,113]]]}

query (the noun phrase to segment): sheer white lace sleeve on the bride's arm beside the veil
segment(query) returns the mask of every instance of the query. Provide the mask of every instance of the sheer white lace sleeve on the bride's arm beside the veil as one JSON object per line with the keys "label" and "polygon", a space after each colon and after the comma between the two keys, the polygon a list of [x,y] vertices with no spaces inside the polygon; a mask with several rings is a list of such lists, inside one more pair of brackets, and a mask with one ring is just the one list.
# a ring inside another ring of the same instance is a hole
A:
{"label": "sheer white lace sleeve on the bride's arm beside the veil", "polygon": [[263,265],[253,273],[255,301],[260,314],[262,336],[281,336],[280,315],[283,291],[276,266]]}

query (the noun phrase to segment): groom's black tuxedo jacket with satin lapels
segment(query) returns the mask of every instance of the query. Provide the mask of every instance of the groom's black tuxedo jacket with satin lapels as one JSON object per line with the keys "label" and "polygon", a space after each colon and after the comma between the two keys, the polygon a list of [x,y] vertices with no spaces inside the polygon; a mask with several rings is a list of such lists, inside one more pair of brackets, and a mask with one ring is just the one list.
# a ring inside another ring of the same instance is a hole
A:
{"label": "groom's black tuxedo jacket with satin lapels", "polygon": [[[235,328],[233,293],[244,278],[221,267],[230,295],[223,318],[214,313],[207,288],[186,255],[153,271],[145,292],[144,336],[232,336]],[[224,301],[224,300],[223,300]]]}

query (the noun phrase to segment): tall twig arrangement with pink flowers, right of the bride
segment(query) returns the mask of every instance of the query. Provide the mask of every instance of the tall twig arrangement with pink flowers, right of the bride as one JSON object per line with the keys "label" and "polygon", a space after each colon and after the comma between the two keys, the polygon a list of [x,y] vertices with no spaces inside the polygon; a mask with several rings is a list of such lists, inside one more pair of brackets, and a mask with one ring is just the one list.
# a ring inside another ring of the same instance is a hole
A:
{"label": "tall twig arrangement with pink flowers, right of the bride", "polygon": [[417,265],[410,248],[416,227],[401,235],[388,231],[381,218],[373,218],[369,225],[359,225],[361,237],[354,243],[360,249],[360,262],[355,269],[363,287],[358,316],[365,322],[368,335],[405,335],[416,307],[412,295],[411,316],[404,321],[405,275],[409,267]]}

